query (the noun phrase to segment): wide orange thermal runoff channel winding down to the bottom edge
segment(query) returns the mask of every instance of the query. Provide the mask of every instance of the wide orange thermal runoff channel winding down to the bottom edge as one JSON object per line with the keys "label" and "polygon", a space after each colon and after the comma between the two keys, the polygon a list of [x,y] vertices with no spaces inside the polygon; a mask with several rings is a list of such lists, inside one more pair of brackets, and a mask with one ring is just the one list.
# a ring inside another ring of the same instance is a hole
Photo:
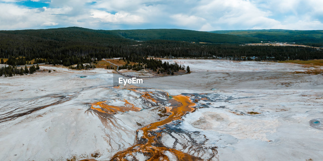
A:
{"label": "wide orange thermal runoff channel winding down to the bottom edge", "polygon": [[[117,153],[113,156],[111,160],[125,161],[127,160],[126,157],[134,156],[135,153],[139,152],[142,153],[144,156],[148,156],[150,158],[148,159],[148,161],[170,161],[170,159],[165,153],[167,151],[175,155],[177,157],[177,160],[179,161],[202,160],[198,157],[189,155],[187,153],[183,153],[172,148],[157,146],[157,137],[161,136],[161,132],[155,131],[159,129],[158,126],[163,126],[165,124],[170,123],[173,120],[181,119],[181,117],[187,112],[192,112],[194,110],[193,106],[195,106],[195,103],[193,103],[190,100],[190,97],[183,95],[172,96],[170,102],[172,103],[172,105],[171,108],[167,108],[167,111],[171,112],[172,114],[168,116],[168,118],[162,121],[151,123],[137,130],[143,131],[143,136],[140,140],[137,140],[137,144],[129,147],[125,151]],[[154,135],[151,134],[151,132],[154,132]]]}

